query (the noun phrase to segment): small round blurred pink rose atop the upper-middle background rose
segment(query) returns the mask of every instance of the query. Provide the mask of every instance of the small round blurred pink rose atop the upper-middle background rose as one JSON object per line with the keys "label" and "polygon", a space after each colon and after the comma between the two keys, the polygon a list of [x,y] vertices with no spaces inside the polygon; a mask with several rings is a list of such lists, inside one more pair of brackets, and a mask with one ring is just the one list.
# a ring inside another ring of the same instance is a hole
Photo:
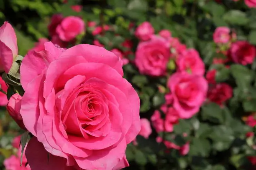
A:
{"label": "small round blurred pink rose atop the upper-middle background rose", "polygon": [[154,35],[154,28],[151,23],[144,22],[139,25],[135,30],[135,36],[142,41],[150,40],[151,36]]}

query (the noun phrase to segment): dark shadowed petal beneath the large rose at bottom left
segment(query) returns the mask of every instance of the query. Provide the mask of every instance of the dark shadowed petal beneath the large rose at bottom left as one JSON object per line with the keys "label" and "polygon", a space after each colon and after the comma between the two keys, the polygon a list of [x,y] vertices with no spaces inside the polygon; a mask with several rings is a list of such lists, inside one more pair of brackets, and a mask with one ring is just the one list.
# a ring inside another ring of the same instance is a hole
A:
{"label": "dark shadowed petal beneath the large rose at bottom left", "polygon": [[76,170],[73,167],[67,167],[65,158],[47,153],[36,137],[29,140],[25,154],[31,170]]}

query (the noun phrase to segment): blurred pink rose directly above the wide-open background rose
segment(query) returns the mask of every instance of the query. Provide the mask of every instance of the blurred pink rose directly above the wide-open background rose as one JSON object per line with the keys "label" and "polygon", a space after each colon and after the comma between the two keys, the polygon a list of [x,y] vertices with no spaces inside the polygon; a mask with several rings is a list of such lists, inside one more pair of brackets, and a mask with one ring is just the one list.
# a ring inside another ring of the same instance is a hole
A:
{"label": "blurred pink rose directly above the wide-open background rose", "polygon": [[205,64],[195,49],[184,50],[178,57],[177,61],[178,71],[187,71],[196,75],[205,74]]}

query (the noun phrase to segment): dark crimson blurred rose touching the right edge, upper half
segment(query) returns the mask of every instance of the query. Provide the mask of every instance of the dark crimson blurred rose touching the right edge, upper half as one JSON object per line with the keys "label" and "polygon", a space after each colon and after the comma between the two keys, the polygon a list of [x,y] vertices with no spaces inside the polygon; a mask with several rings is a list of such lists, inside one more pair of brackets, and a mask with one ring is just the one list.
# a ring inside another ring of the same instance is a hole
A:
{"label": "dark crimson blurred rose touching the right edge, upper half", "polygon": [[236,41],[231,45],[228,55],[236,63],[251,64],[255,57],[255,47],[246,41]]}

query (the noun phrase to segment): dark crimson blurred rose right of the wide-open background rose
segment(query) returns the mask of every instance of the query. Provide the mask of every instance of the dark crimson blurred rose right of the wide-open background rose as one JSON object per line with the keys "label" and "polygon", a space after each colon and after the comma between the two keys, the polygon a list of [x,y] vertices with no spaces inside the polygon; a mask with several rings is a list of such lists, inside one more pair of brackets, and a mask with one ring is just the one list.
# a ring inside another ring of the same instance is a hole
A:
{"label": "dark crimson blurred rose right of the wide-open background rose", "polygon": [[210,86],[207,97],[211,102],[215,102],[218,105],[223,103],[233,96],[233,89],[227,83],[219,83],[214,86]]}

